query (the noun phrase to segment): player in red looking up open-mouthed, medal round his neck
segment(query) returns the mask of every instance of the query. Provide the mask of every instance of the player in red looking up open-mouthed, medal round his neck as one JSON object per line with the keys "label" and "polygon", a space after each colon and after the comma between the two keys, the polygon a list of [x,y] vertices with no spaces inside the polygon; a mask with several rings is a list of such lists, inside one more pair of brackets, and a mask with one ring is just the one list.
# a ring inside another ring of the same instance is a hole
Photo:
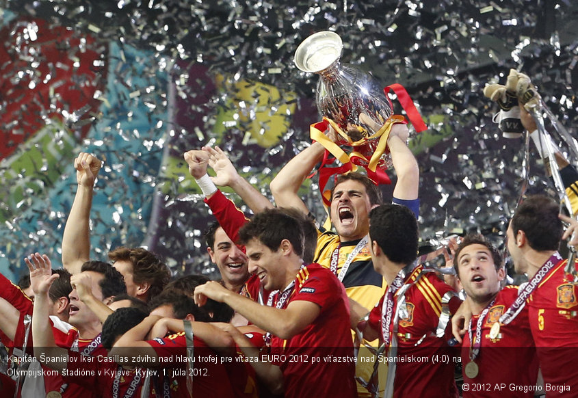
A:
{"label": "player in red looking up open-mouthed, medal round his neck", "polygon": [[[501,288],[505,269],[498,250],[482,235],[468,235],[456,250],[454,269],[473,313],[462,342],[464,383],[491,386],[464,388],[463,397],[491,398],[500,393],[516,398],[534,397],[536,389],[531,387],[536,386],[538,356],[527,306],[508,324],[500,323],[501,316],[516,301],[518,287]],[[521,388],[512,390],[512,384]]]}

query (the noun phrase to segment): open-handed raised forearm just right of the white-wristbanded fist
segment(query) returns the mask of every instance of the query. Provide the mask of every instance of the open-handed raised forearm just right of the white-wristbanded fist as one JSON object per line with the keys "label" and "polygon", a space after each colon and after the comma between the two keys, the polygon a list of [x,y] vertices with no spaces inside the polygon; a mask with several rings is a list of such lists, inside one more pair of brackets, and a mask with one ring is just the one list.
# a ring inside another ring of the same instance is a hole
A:
{"label": "open-handed raised forearm just right of the white-wristbanded fist", "polygon": [[241,177],[231,160],[218,146],[211,148],[203,146],[202,150],[209,154],[209,166],[215,170],[213,183],[221,187],[231,187],[237,195],[247,204],[253,213],[259,213],[265,209],[272,209],[273,204],[257,191],[245,178]]}

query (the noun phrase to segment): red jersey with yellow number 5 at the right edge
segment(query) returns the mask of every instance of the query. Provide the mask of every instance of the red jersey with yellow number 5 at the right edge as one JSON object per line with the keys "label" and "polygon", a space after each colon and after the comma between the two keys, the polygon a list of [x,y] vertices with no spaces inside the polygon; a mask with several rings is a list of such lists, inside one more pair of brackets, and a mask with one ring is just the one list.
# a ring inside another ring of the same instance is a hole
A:
{"label": "red jersey with yellow number 5 at the right edge", "polygon": [[568,387],[551,391],[555,397],[575,397],[578,391],[578,284],[564,272],[566,262],[557,263],[527,300],[544,382]]}

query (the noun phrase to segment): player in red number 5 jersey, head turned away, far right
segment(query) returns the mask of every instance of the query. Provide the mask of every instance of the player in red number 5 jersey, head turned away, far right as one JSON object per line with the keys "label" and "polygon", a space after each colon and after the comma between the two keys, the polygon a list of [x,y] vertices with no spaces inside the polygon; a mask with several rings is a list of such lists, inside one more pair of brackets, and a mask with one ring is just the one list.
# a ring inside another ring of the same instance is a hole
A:
{"label": "player in red number 5 jersey, head turned away, far right", "polygon": [[508,251],[518,273],[547,397],[578,393],[578,284],[557,252],[562,239],[559,205],[545,196],[529,196],[508,226]]}

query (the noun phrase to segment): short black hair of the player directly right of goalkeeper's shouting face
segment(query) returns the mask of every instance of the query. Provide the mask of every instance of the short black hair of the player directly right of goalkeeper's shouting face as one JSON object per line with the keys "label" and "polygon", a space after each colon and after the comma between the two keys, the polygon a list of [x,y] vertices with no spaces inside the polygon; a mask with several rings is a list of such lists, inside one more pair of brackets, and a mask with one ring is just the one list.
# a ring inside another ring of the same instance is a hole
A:
{"label": "short black hair of the player directly right of goalkeeper's shouting face", "polygon": [[405,206],[382,204],[371,210],[369,235],[394,263],[409,264],[417,257],[417,221],[414,213]]}

